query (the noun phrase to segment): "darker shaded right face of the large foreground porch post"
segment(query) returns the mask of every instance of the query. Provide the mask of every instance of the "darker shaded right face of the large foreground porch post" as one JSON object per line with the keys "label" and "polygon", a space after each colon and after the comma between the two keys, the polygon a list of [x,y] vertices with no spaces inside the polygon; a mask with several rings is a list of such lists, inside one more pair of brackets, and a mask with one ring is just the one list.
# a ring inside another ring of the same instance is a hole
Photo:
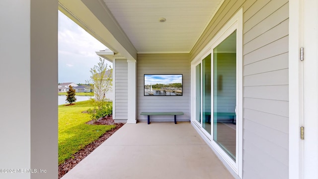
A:
{"label": "darker shaded right face of the large foreground porch post", "polygon": [[58,0],[31,0],[30,19],[31,179],[57,179]]}

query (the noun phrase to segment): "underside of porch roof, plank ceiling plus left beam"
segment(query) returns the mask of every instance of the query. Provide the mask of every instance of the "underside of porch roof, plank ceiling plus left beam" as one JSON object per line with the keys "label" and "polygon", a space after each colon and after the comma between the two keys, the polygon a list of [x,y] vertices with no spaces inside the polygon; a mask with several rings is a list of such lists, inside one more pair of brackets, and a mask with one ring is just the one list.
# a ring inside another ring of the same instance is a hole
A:
{"label": "underside of porch roof, plank ceiling plus left beam", "polygon": [[113,52],[100,57],[136,61],[138,53],[190,53],[223,1],[59,0],[59,10]]}

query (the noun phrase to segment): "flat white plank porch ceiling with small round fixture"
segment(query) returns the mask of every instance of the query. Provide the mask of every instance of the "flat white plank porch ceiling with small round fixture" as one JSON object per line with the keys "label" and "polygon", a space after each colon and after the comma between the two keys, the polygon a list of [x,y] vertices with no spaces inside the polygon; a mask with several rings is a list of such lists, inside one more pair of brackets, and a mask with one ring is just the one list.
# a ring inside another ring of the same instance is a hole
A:
{"label": "flat white plank porch ceiling with small round fixture", "polygon": [[189,53],[223,0],[104,2],[138,53]]}

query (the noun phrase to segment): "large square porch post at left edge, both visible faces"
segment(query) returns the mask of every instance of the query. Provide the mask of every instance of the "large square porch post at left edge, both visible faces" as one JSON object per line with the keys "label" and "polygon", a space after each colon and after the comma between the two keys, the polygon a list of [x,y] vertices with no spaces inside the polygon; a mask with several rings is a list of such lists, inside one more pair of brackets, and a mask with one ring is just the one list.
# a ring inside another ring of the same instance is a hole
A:
{"label": "large square porch post at left edge, both visible faces", "polygon": [[58,0],[0,4],[0,179],[57,179]]}

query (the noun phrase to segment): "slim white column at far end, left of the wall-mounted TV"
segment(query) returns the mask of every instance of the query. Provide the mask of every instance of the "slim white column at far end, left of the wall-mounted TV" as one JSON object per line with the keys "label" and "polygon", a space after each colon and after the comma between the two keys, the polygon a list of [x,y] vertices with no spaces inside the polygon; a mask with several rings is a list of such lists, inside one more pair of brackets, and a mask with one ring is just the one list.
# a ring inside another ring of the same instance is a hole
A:
{"label": "slim white column at far end, left of the wall-mounted TV", "polygon": [[136,60],[128,63],[128,120],[127,123],[137,123],[136,120]]}

